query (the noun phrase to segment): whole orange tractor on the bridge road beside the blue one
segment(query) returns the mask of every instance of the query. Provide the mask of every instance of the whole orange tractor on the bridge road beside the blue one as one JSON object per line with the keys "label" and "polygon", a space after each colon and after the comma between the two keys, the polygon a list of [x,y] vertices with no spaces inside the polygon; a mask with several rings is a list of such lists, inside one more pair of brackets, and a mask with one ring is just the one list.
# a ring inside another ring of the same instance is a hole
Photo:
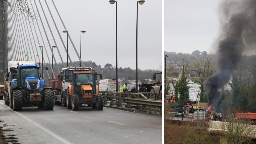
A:
{"label": "whole orange tractor on the bridge road beside the blue one", "polygon": [[96,71],[73,71],[72,83],[67,89],[67,108],[79,110],[79,105],[87,104],[93,109],[102,110],[104,98],[99,94],[98,85],[96,85]]}

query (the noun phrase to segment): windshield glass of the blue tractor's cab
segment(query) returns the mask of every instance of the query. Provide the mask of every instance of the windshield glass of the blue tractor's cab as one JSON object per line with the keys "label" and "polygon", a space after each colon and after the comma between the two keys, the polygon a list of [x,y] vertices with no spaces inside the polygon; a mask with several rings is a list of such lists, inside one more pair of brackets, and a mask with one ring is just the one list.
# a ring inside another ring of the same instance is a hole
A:
{"label": "windshield glass of the blue tractor's cab", "polygon": [[37,68],[27,68],[27,67],[22,68],[21,69],[21,86],[25,85],[25,79],[29,76],[39,79],[38,69]]}

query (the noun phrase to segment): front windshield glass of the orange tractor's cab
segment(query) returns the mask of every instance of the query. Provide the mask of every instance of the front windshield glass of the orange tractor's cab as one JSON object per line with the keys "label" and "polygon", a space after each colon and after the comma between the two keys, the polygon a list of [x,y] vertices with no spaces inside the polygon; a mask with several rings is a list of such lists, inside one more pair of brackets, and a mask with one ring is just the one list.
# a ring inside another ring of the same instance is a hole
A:
{"label": "front windshield glass of the orange tractor's cab", "polygon": [[76,74],[76,85],[81,86],[81,85],[90,85],[94,86],[94,74],[92,73],[81,73],[81,74]]}

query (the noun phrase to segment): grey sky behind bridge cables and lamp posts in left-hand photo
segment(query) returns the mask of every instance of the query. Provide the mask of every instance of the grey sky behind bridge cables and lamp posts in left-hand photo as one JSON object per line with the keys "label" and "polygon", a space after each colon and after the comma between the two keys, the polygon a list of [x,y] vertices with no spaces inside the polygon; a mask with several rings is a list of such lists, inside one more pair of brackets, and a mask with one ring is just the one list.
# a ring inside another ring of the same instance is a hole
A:
{"label": "grey sky behind bridge cables and lamp posts in left-hand photo", "polygon": [[[83,29],[86,30],[86,33],[82,34],[82,60],[94,61],[102,67],[104,67],[106,63],[111,63],[115,66],[116,6],[111,5],[108,0],[54,0],[54,2],[79,54],[80,31]],[[66,62],[66,52],[64,51],[46,4],[43,0],[41,0],[41,3],[51,25],[57,45],[61,50],[63,61]],[[64,27],[58,18],[52,1],[47,0],[47,3],[66,45],[66,34],[62,33]],[[37,6],[40,7],[38,1]],[[146,0],[145,4],[139,5],[138,9],[138,68],[142,70],[159,69],[159,65],[162,62],[162,2],[160,0]],[[39,8],[39,12],[44,21],[50,43],[54,45],[41,8]],[[118,1],[117,23],[118,67],[131,67],[134,69],[136,49],[136,0]],[[41,24],[39,25],[41,26]],[[42,27],[40,28],[43,32]],[[44,38],[44,42],[47,49],[50,51],[46,38]],[[49,57],[51,57],[50,52],[48,52],[48,54]],[[56,60],[60,62],[60,57],[56,49],[54,49],[54,54]],[[72,56],[72,61],[78,61],[70,41],[69,54]],[[48,62],[47,59],[46,62]]]}

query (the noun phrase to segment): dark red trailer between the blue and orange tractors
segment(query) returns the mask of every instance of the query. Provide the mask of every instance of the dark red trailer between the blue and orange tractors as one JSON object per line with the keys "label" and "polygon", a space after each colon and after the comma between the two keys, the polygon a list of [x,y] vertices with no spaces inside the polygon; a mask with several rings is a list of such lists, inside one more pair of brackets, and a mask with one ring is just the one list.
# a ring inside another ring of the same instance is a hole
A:
{"label": "dark red trailer between the blue and orange tractors", "polygon": [[54,92],[54,105],[61,104],[61,87],[62,82],[60,80],[60,74],[57,79],[48,79],[49,87],[53,88]]}

